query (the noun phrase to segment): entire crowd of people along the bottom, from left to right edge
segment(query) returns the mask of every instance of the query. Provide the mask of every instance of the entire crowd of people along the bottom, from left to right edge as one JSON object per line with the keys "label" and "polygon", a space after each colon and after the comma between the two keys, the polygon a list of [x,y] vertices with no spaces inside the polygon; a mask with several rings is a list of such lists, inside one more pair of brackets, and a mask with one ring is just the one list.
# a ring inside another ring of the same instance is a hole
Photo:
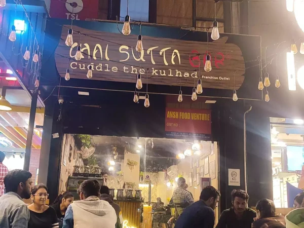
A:
{"label": "entire crowd of people along the bottom, from left to right edge", "polygon": [[[1,165],[0,153],[0,168]],[[4,187],[6,192],[0,197],[1,228],[123,227],[120,206],[113,202],[109,188],[100,186],[97,180],[87,179],[81,183],[79,201],[73,201],[73,195],[66,192],[49,206],[47,186],[32,186],[31,177],[31,173],[25,170],[12,170],[4,178],[0,177],[0,192]],[[193,195],[186,189],[185,179],[180,177],[177,183],[170,201],[175,206],[175,214],[168,225],[174,223],[175,228],[214,228],[219,191],[207,186],[203,188],[199,201],[194,202]],[[294,210],[285,217],[276,214],[274,202],[269,199],[258,201],[253,210],[248,208],[249,196],[245,191],[234,190],[231,196],[232,207],[221,213],[216,228],[304,228],[304,193],[295,197]],[[23,199],[31,199],[32,203],[27,205]]]}

